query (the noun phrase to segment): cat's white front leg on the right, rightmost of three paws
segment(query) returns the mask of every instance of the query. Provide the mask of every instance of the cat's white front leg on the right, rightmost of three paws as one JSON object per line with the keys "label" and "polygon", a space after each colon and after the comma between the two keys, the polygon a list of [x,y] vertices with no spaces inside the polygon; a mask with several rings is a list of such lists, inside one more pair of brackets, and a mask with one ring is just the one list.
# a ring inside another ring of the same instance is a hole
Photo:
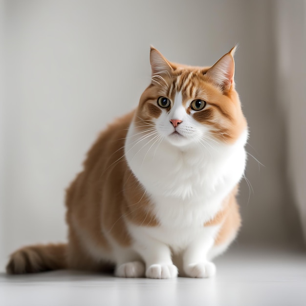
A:
{"label": "cat's white front leg on the right, rightmost of three paws", "polygon": [[189,277],[207,278],[216,273],[216,266],[207,260],[207,253],[214,245],[214,239],[201,235],[193,240],[183,253],[184,272]]}

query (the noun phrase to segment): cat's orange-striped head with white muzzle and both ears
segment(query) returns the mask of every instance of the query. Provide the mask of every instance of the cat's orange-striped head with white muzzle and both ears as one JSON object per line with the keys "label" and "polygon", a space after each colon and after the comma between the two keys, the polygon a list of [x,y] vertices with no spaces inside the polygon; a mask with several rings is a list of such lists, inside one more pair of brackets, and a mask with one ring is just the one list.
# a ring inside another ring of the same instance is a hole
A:
{"label": "cat's orange-striped head with white muzzle and both ears", "polygon": [[171,63],[151,47],[152,83],[134,125],[177,147],[234,143],[247,128],[235,90],[235,49],[212,67],[196,67]]}

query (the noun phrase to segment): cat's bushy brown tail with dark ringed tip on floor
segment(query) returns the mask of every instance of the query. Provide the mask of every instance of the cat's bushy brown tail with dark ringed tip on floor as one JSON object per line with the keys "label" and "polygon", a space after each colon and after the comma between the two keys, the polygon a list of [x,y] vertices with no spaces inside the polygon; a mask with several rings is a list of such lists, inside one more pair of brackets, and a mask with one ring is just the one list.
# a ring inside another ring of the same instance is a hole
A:
{"label": "cat's bushy brown tail with dark ringed tip on floor", "polygon": [[67,268],[67,244],[38,244],[25,246],[10,256],[8,274],[38,273]]}

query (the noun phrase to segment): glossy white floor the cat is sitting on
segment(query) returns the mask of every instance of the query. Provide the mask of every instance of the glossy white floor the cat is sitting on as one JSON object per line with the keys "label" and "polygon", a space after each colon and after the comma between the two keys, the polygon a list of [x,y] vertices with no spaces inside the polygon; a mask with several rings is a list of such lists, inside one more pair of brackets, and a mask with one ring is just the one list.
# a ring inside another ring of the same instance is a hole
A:
{"label": "glossy white floor the cat is sitting on", "polygon": [[215,263],[212,279],[120,279],[75,271],[0,274],[0,306],[306,305],[306,252],[235,246]]}

